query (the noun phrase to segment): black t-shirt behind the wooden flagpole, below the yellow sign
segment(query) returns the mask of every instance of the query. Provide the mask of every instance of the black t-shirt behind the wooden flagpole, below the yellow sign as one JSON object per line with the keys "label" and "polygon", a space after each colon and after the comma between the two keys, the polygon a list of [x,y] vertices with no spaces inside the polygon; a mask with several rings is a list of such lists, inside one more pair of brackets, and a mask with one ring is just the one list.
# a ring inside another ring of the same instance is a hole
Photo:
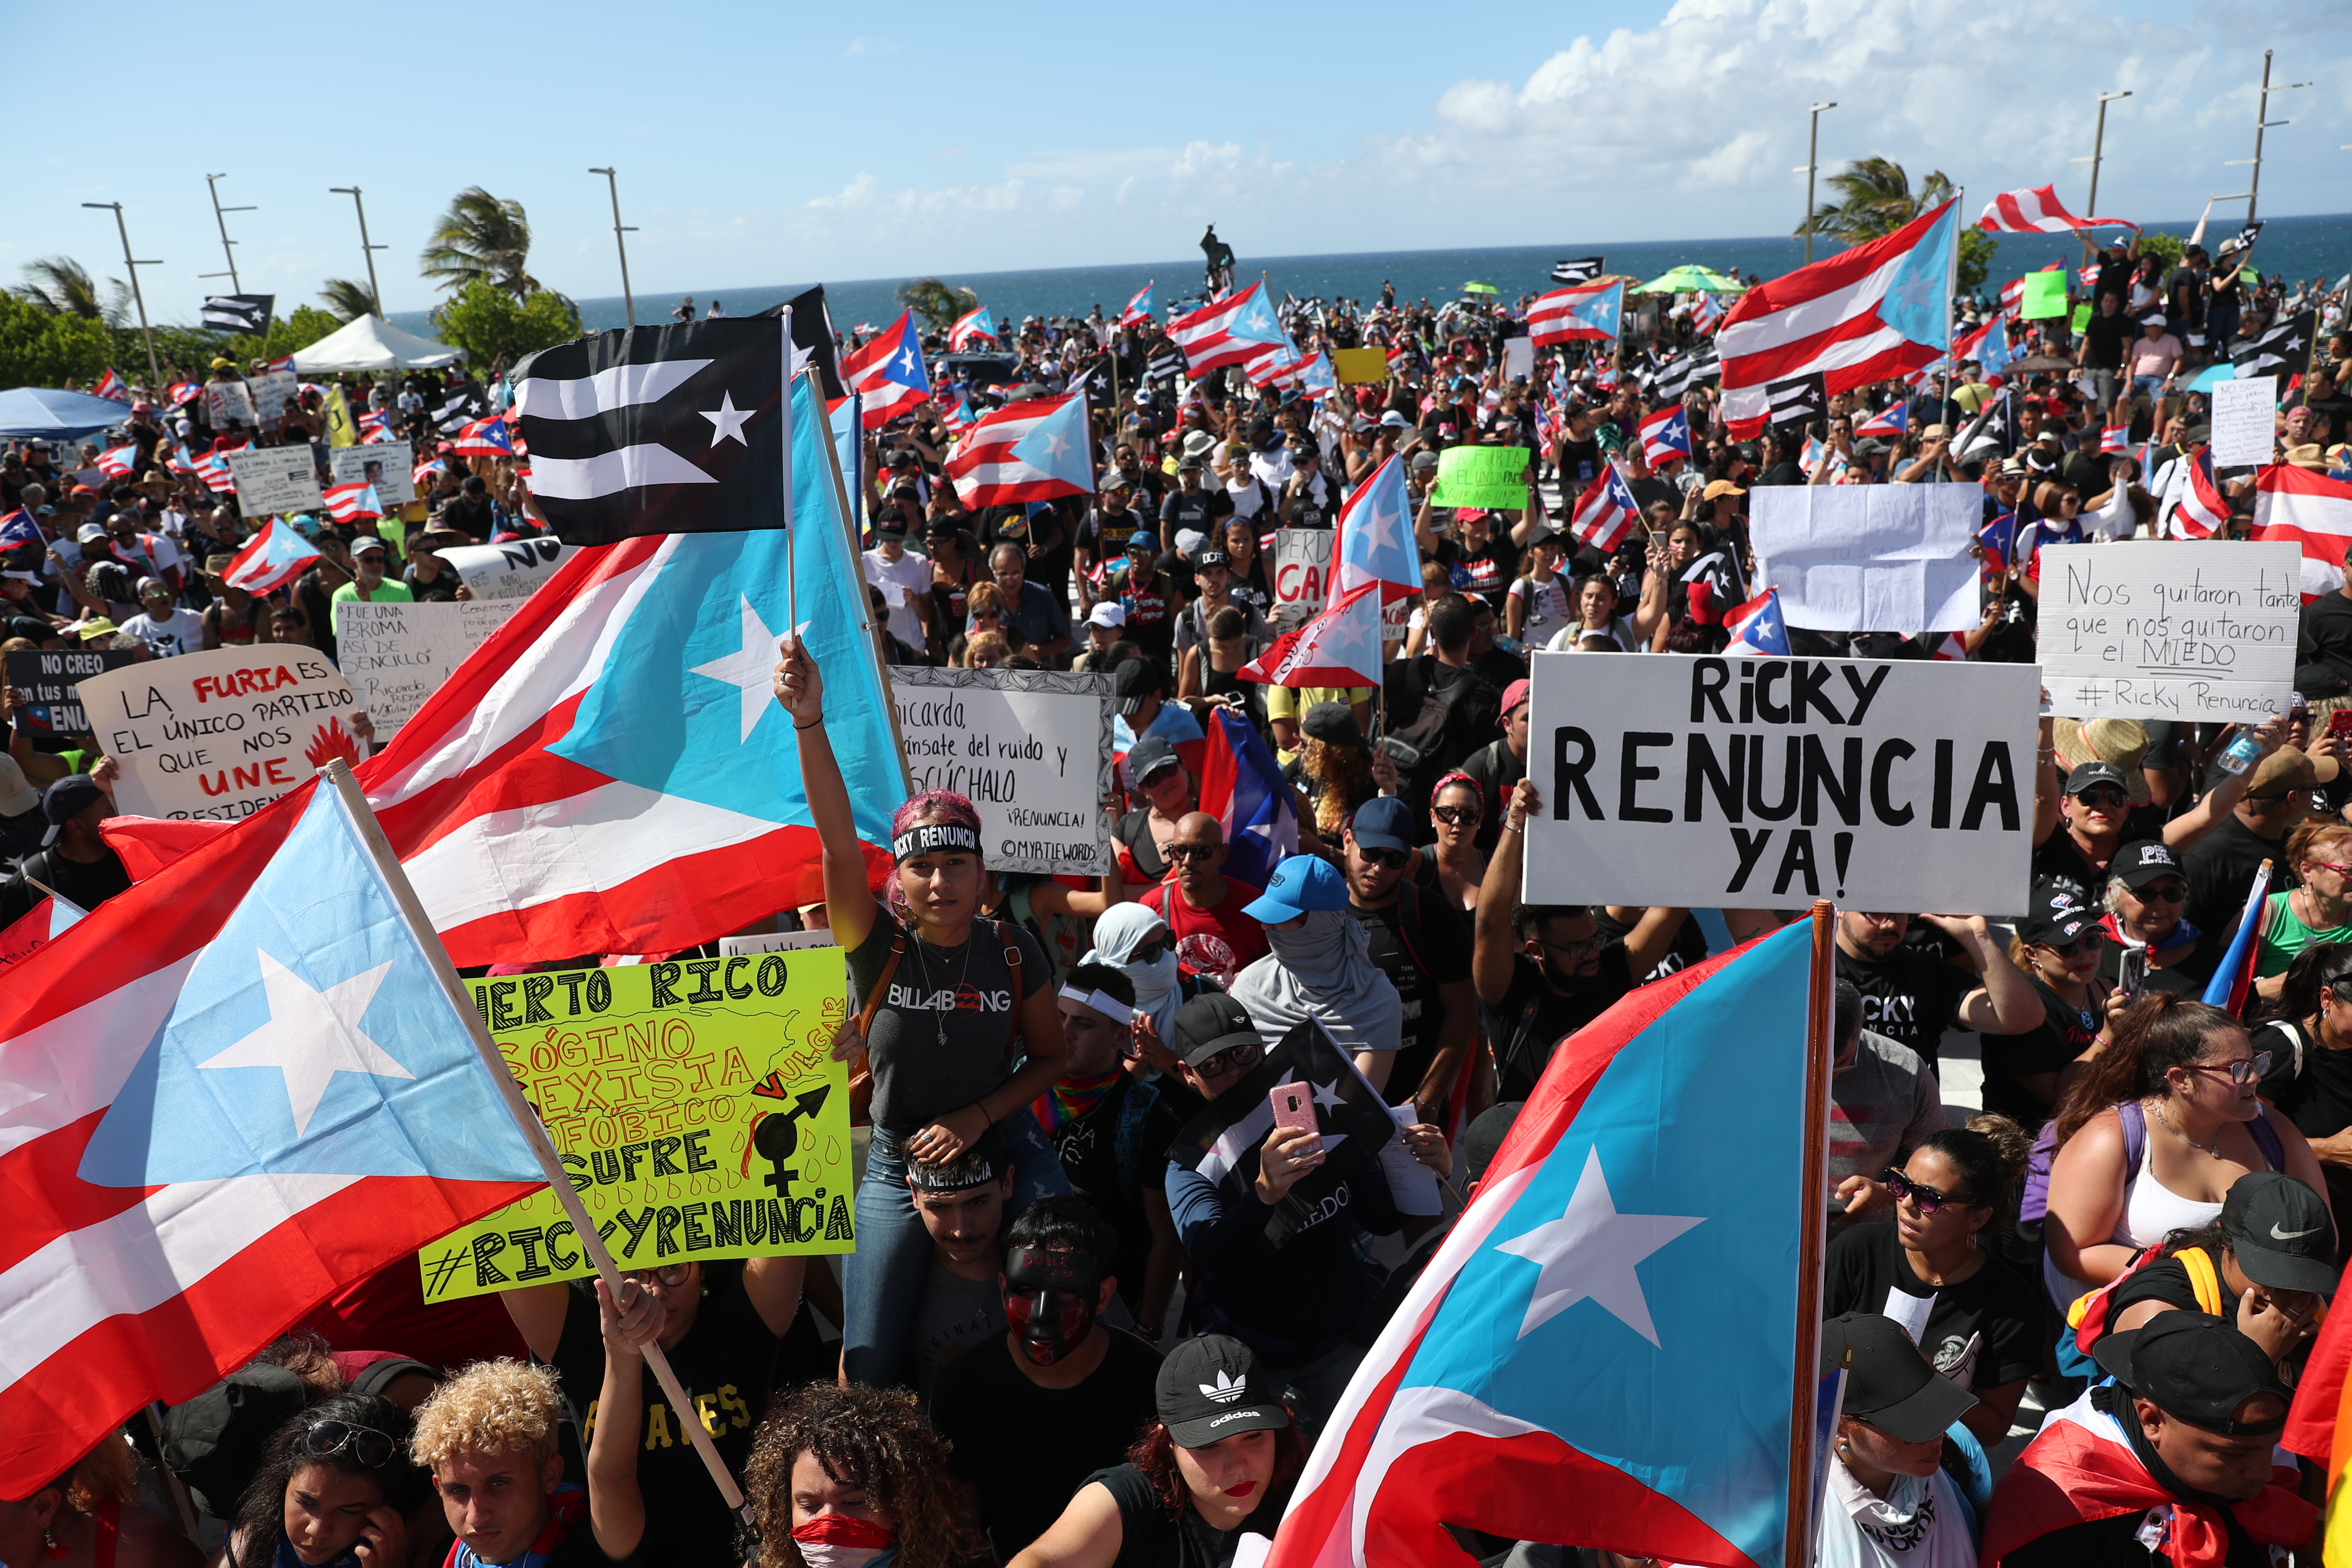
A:
{"label": "black t-shirt behind the wooden flagpole, below the yellow sign", "polygon": [[[621,1267],[637,1262],[621,1260]],[[741,1272],[729,1272],[734,1279],[703,1295],[694,1326],[668,1349],[670,1371],[677,1373],[696,1410],[684,1415],[673,1410],[654,1371],[640,1373],[644,1441],[637,1448],[637,1488],[647,1497],[668,1500],[654,1533],[661,1537],[661,1559],[673,1563],[739,1561],[734,1549],[739,1521],[710,1486],[710,1472],[703,1469],[682,1425],[699,1413],[727,1469],[743,1474],[753,1432],[767,1410],[776,1335],[767,1331],[767,1321],[743,1291]],[[564,1331],[555,1342],[555,1373],[579,1415],[581,1446],[595,1436],[595,1403],[604,1387],[604,1335],[597,1328],[595,1295],[583,1286],[588,1281],[574,1281]],[[588,1535],[586,1521],[574,1528]],[[569,1547],[569,1537],[564,1544]]]}

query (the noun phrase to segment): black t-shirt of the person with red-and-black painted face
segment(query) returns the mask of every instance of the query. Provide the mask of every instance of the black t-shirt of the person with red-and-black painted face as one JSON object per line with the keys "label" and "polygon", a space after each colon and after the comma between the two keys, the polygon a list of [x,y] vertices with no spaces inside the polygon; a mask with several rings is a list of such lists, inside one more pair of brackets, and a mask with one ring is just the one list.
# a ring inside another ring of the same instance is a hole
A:
{"label": "black t-shirt of the person with red-and-black painted face", "polygon": [[1000,1563],[1044,1535],[1077,1488],[1152,1422],[1160,1352],[1117,1328],[1094,1331],[1110,1349],[1075,1389],[1037,1387],[997,1338],[957,1356],[931,1392],[931,1425],[948,1439],[955,1476],[981,1493]]}

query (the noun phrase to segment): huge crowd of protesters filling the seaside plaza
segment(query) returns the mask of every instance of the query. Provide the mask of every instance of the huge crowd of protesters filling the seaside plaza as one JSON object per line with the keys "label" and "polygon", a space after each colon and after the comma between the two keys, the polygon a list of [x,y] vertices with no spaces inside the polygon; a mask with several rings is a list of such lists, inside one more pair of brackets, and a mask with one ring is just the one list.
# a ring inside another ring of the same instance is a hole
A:
{"label": "huge crowd of protesters filling the seaside plaza", "polygon": [[[783,656],[776,701],[802,731],[826,884],[823,905],[788,914],[847,950],[856,1020],[835,1053],[870,1126],[842,1274],[682,1262],[628,1274],[621,1298],[579,1281],[428,1307],[414,1269],[388,1269],[129,1446],[0,1502],[0,1561],[186,1563],[198,1547],[162,1523],[186,1519],[240,1568],[1223,1568],[1244,1535],[1272,1535],[1446,1218],[1409,1213],[1364,1166],[1336,1220],[1270,1241],[1322,1140],[1275,1126],[1237,1192],[1176,1157],[1178,1128],[1315,1020],[1402,1110],[1399,1147],[1458,1213],[1564,1037],[1722,936],[1797,917],[1524,903],[1529,651],[1719,651],[1752,588],[1752,489],[1950,482],[2009,524],[1985,536],[1983,621],[1962,646],[1792,628],[1795,651],[2030,663],[2037,545],[2152,536],[2166,465],[2206,442],[2190,378],[2298,310],[2321,346],[2281,378],[2277,461],[2343,468],[2345,301],[2241,284],[2244,261],[2225,247],[2166,270],[2112,247],[2086,268],[2082,336],[2013,324],[2042,369],[1962,362],[1950,381],[1837,393],[1757,440],[1733,440],[1686,374],[1719,303],[1698,296],[1637,296],[1625,341],[1545,346],[1517,378],[1503,367],[1524,301],[1294,303],[1303,353],[1388,357],[1383,381],[1322,397],[1242,369],[1188,381],[1160,322],[1101,308],[976,355],[929,341],[936,402],[870,437],[866,463],[887,656],[1108,675],[1117,865],[1098,882],[997,875],[971,802],[929,792],[898,811],[877,886],[821,724],[823,672]],[[1962,327],[1992,310],[1962,301]],[[1098,376],[1120,390],[1096,409],[1091,496],[957,498],[943,407]],[[120,440],[136,456],[113,477],[96,444],[16,444],[0,515],[21,508],[40,538],[0,555],[0,646],[332,654],[339,599],[463,595],[435,550],[539,529],[513,458],[445,444],[433,409],[456,388],[306,388],[270,430],[212,430],[202,397],[134,393]],[[254,599],[221,578],[252,522],[191,456],[320,442],[332,395],[437,470],[402,515],[296,517],[320,562]],[[508,397],[494,374],[485,407]],[[1691,454],[1646,458],[1637,425],[1668,402]],[[1896,404],[1900,435],[1856,437]],[[2117,428],[2131,451],[2103,440]],[[1458,444],[1524,447],[1526,503],[1432,505]],[[1275,595],[1275,534],[1334,529],[1390,458],[1423,592],[1388,630],[1381,689],[1240,675],[1305,614]],[[1566,515],[1609,463],[1642,527],[1602,552]],[[2241,536],[2253,475],[2218,482],[2234,508],[2218,536]],[[1849,1385],[1823,1563],[1957,1568],[1980,1544],[1985,1561],[2119,1561],[2150,1509],[2220,1542],[2194,1561],[2310,1540],[2270,1443],[2345,1255],[2331,1204],[2352,1192],[2352,1011],[2336,1011],[2352,1009],[2352,771],[2324,724],[2352,689],[2352,590],[2305,611],[2303,665],[2305,705],[2251,726],[2239,771],[2220,729],[2044,717],[2013,919],[1839,912],[1823,1309],[1825,1366],[1849,1359]],[[1296,792],[1298,853],[1261,884],[1228,870],[1200,809],[1218,710]],[[111,759],[31,724],[19,693],[0,717],[0,839],[24,863],[0,924],[40,889],[85,907],[118,893],[129,877],[99,832]],[[2232,1016],[2194,997],[2263,860],[2277,917]],[[938,1011],[943,987],[1000,1006]],[[1987,1114],[1966,1126],[1945,1119],[1950,1030],[1980,1039]],[[696,1408],[668,1408],[647,1342]],[[2122,1455],[2131,1509],[2058,1519],[2039,1446],[1994,1490],[1985,1450],[2027,1401]],[[684,1422],[741,1479],[748,1528]]]}

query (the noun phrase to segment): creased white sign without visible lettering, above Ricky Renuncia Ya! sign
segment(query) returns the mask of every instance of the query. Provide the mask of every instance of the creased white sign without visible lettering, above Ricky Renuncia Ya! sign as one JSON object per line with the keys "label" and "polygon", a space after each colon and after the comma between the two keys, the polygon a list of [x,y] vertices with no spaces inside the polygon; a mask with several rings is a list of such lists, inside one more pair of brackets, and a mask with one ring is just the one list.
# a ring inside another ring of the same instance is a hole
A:
{"label": "creased white sign without visible lettering, above Ricky Renuncia Ya! sign", "polygon": [[1818,632],[1966,632],[1983,614],[1973,484],[1762,484],[1748,494],[1757,583]]}

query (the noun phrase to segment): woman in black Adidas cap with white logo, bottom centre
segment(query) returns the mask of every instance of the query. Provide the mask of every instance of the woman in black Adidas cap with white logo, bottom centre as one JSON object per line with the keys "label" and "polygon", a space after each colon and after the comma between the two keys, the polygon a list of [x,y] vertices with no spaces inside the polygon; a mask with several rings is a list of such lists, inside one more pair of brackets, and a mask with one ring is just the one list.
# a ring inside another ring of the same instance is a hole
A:
{"label": "woman in black Adidas cap with white logo, bottom centre", "polygon": [[1127,1462],[1087,1476],[1009,1568],[1225,1568],[1244,1535],[1272,1540],[1308,1460],[1279,1382],[1225,1335],[1171,1349]]}

